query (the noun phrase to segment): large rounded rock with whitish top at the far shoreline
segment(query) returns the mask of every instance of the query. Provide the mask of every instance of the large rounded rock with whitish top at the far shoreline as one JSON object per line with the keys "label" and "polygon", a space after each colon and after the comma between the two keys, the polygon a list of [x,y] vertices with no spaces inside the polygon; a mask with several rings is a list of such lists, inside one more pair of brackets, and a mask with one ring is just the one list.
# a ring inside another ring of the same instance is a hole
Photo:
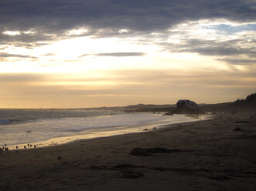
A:
{"label": "large rounded rock with whitish top at the far shoreline", "polygon": [[200,109],[196,102],[190,101],[188,99],[181,99],[176,103],[177,109],[176,113],[199,113]]}

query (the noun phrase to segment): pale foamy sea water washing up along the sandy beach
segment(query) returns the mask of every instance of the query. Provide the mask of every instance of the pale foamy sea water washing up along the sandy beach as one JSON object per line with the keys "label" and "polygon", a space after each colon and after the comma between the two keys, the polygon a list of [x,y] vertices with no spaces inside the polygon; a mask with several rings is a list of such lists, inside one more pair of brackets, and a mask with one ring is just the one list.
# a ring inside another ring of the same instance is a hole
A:
{"label": "pale foamy sea water washing up along the sandy beach", "polygon": [[177,122],[191,116],[108,109],[0,109],[0,146],[51,146],[77,139],[114,136]]}

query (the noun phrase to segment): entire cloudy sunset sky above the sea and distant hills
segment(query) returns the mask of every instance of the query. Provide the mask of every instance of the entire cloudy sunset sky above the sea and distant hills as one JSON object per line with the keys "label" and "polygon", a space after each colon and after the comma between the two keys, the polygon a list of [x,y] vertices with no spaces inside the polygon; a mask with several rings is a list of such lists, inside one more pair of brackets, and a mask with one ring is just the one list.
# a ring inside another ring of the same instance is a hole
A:
{"label": "entire cloudy sunset sky above the sea and distant hills", "polygon": [[2,0],[0,108],[256,92],[255,0]]}

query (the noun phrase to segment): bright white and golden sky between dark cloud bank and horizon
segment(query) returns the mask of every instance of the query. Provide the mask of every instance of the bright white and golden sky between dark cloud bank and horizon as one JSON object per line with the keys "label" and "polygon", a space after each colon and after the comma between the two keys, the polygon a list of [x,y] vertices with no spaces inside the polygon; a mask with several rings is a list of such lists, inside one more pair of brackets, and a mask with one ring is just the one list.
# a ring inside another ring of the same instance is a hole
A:
{"label": "bright white and golden sky between dark cloud bank and horizon", "polygon": [[[246,25],[224,19],[203,19],[179,23],[162,32],[130,36],[128,34],[133,31],[128,28],[97,29],[100,35],[118,33],[108,38],[90,35],[90,29],[81,27],[63,32],[64,37],[55,41],[1,45],[1,74],[4,77],[0,76],[0,98],[6,100],[5,107],[16,107],[12,102],[19,107],[102,106],[104,99],[111,100],[107,106],[116,106],[113,98],[119,98],[120,105],[136,104],[140,100],[168,103],[172,102],[169,95],[180,97],[193,92],[195,98],[199,94],[210,98],[224,89],[254,89],[256,66],[251,64],[254,59],[243,54],[237,60],[232,51],[254,49],[256,34],[239,28],[227,31],[228,27]],[[2,34],[9,35],[8,38],[27,38],[38,31],[30,28]],[[225,44],[238,40],[243,43]],[[218,53],[218,49],[223,48],[222,43],[227,49]],[[204,52],[207,49],[210,51]],[[222,55],[225,51],[230,54],[228,57]],[[14,82],[8,81],[12,79],[9,74],[21,75],[24,81],[17,77],[18,87],[15,77]],[[29,81],[27,76],[30,75]],[[67,105],[59,102],[60,96]],[[224,98],[220,96],[219,100]],[[39,102],[39,99],[44,101]],[[24,100],[27,105],[23,106]],[[48,100],[52,103],[47,105]]]}

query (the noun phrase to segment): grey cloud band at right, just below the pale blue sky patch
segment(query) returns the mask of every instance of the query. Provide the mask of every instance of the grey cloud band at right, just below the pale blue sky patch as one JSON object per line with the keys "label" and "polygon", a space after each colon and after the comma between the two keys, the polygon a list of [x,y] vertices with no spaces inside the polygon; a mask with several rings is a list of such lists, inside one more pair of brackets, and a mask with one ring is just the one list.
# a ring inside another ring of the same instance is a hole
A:
{"label": "grey cloud band at right, just below the pale blue sky patch", "polygon": [[[221,61],[234,65],[255,64],[256,44],[248,39],[236,39],[227,41],[214,41],[205,39],[186,39],[180,44],[160,43],[169,52],[194,52],[200,55],[214,55],[222,57]],[[244,59],[234,59],[234,57]]]}

